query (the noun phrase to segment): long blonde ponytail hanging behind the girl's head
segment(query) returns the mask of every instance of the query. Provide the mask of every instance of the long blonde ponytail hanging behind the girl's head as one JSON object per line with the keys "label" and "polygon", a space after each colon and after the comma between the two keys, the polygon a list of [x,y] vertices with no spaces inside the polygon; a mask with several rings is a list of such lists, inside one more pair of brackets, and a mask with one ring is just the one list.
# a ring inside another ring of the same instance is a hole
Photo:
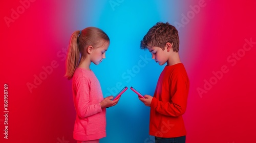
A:
{"label": "long blonde ponytail hanging behind the girl's head", "polygon": [[70,80],[73,77],[76,67],[79,64],[80,52],[78,47],[78,36],[80,31],[75,31],[70,39],[69,49],[66,58],[66,74],[64,77]]}

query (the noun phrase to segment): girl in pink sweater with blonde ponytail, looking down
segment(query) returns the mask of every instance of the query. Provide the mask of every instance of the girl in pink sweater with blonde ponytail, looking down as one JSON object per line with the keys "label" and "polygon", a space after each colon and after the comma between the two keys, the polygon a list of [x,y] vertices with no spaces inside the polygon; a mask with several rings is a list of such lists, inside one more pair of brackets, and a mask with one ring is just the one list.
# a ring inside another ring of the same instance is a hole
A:
{"label": "girl in pink sweater with blonde ponytail, looking down", "polygon": [[76,109],[73,137],[77,142],[99,142],[106,136],[106,108],[114,106],[113,96],[103,99],[98,79],[90,69],[105,59],[110,39],[102,30],[88,27],[75,31],[70,39],[66,59],[66,75],[72,78],[72,91]]}

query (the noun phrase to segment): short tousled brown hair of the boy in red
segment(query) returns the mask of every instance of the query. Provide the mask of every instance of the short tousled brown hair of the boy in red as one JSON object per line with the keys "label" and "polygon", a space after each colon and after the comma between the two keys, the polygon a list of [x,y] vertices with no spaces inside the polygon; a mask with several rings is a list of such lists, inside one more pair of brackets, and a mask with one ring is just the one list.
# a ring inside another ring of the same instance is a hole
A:
{"label": "short tousled brown hair of the boy in red", "polygon": [[173,43],[174,52],[179,52],[178,30],[168,22],[157,22],[155,26],[148,30],[143,40],[140,41],[140,47],[141,49],[147,49],[147,47],[158,46],[164,50],[167,42]]}

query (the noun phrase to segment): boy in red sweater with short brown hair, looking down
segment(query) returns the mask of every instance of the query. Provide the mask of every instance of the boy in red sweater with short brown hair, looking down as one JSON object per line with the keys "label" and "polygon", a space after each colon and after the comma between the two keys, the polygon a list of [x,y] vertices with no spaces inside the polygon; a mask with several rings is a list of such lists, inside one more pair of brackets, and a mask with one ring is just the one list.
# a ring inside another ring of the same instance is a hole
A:
{"label": "boy in red sweater with short brown hair, looking down", "polygon": [[182,118],[187,105],[189,80],[179,57],[179,35],[168,22],[158,22],[144,36],[141,49],[148,49],[159,65],[167,63],[159,76],[154,97],[140,98],[150,111],[150,135],[156,143],[183,143],[186,130]]}

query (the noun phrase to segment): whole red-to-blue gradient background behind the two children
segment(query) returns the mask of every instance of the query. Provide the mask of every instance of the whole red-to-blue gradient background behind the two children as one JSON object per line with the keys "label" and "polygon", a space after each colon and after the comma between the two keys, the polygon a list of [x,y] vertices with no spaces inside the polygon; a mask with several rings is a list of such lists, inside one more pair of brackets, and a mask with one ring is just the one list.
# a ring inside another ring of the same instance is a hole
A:
{"label": "whole red-to-blue gradient background behind the two children", "polygon": [[[24,0],[25,1],[25,0]],[[75,109],[71,81],[63,78],[71,34],[86,27],[98,27],[110,37],[106,59],[91,65],[100,81],[104,97],[115,95],[122,87],[135,87],[153,96],[164,68],[151,54],[140,50],[140,41],[158,21],[182,23],[182,14],[191,6],[205,6],[179,28],[180,57],[190,80],[184,122],[186,142],[253,142],[255,135],[256,45],[236,60],[227,61],[243,48],[245,39],[256,41],[254,1],[34,1],[9,27],[4,17],[20,1],[1,1],[1,87],[9,86],[9,139],[1,132],[0,142],[72,143]],[[240,53],[241,54],[241,53]],[[146,60],[145,60],[146,59]],[[234,60],[234,58],[232,58]],[[35,88],[35,77],[42,68],[56,62],[51,74]],[[203,93],[209,81],[226,65],[228,73]],[[131,72],[132,74],[130,74]],[[0,131],[4,129],[0,98]],[[119,103],[107,109],[105,138],[100,142],[154,142],[148,135],[150,108],[132,90],[122,94]]]}

